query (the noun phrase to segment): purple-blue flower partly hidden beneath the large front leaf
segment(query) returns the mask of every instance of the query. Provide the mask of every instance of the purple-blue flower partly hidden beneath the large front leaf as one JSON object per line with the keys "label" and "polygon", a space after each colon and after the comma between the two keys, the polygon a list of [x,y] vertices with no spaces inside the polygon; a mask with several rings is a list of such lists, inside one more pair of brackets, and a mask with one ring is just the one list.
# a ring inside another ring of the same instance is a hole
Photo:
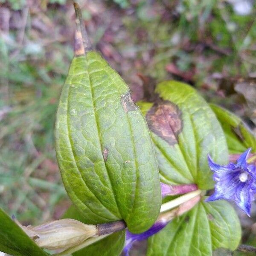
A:
{"label": "purple-blue flower partly hidden beneath the large front leaf", "polygon": [[134,234],[134,233],[131,233],[129,230],[126,230],[125,247],[123,249],[125,256],[129,256],[129,251],[132,245],[134,244],[134,242],[141,241],[141,240],[147,239],[150,236],[153,236],[155,233],[163,229],[168,223],[169,221],[161,219],[155,222],[150,229],[140,234]]}

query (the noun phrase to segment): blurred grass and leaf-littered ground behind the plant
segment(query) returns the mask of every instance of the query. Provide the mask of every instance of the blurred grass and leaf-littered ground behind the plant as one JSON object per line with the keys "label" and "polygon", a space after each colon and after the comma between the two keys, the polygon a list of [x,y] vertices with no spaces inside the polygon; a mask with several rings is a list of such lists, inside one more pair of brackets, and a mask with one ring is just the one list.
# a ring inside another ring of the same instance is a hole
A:
{"label": "blurred grass and leaf-littered ground behind the plant", "polygon": [[[135,101],[158,81],[185,81],[255,131],[255,1],[77,2],[93,45]],[[74,30],[70,0],[0,0],[0,207],[24,224],[59,218],[70,205],[54,122]],[[252,220],[244,225],[250,236]]]}

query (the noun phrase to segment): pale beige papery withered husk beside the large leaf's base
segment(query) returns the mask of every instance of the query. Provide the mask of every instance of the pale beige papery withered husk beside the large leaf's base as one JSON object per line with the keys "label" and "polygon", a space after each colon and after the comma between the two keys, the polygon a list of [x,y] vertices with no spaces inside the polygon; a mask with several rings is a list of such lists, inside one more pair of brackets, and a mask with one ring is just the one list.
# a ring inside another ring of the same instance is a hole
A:
{"label": "pale beige papery withered husk beside the large leaf's base", "polygon": [[66,250],[99,236],[95,225],[87,225],[73,219],[49,221],[35,227],[24,227],[15,221],[38,246],[50,250]]}

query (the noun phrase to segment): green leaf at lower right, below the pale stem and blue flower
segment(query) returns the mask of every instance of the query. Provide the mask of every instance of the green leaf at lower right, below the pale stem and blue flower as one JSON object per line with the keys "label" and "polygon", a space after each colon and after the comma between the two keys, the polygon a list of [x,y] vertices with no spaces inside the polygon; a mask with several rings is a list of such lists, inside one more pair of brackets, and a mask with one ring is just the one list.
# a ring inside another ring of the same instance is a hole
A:
{"label": "green leaf at lower right, below the pale stem and blue flower", "polygon": [[149,239],[147,256],[208,256],[235,250],[240,239],[239,218],[227,201],[200,202]]}

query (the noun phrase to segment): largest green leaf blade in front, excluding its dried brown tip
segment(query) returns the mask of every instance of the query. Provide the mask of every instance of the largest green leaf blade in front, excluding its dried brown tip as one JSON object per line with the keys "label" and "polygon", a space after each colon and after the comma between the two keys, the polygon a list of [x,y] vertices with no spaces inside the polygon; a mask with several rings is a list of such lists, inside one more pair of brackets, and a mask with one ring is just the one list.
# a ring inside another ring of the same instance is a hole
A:
{"label": "largest green leaf blade in front, excluding its dried brown tip", "polygon": [[161,193],[148,127],[127,85],[99,53],[73,59],[55,138],[64,186],[87,223],[124,219],[134,233],[151,227]]}

